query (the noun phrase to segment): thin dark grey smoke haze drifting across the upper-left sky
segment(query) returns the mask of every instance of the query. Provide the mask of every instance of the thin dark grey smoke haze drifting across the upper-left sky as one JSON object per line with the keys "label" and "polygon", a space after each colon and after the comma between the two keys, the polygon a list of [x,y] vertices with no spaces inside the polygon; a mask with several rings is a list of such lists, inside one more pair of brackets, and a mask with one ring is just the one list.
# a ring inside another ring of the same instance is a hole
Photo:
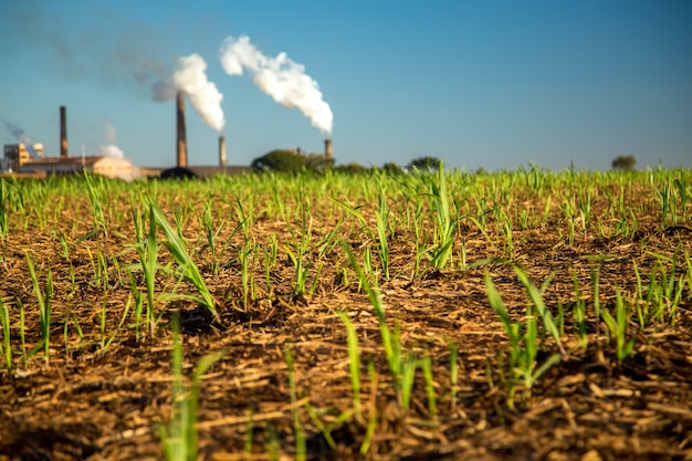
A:
{"label": "thin dark grey smoke haze drifting across the upper-left sky", "polygon": [[147,24],[98,2],[83,2],[80,10],[107,21],[66,22],[61,9],[63,3],[49,0],[2,2],[0,54],[21,65],[22,54],[32,49],[35,65],[51,78],[92,81],[143,97],[170,75],[176,54]]}

